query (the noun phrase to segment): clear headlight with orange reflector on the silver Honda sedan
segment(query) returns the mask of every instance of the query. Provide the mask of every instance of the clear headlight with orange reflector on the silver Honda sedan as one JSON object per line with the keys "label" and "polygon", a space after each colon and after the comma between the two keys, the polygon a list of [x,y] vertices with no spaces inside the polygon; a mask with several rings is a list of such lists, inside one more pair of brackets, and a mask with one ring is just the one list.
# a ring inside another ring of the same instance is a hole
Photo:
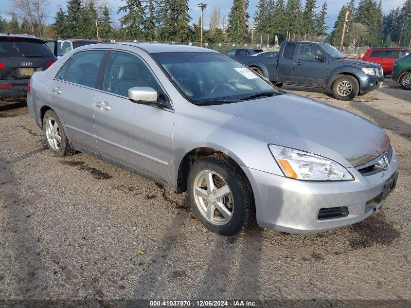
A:
{"label": "clear headlight with orange reflector on the silver Honda sedan", "polygon": [[347,169],[325,157],[281,145],[268,145],[287,178],[306,181],[351,181]]}

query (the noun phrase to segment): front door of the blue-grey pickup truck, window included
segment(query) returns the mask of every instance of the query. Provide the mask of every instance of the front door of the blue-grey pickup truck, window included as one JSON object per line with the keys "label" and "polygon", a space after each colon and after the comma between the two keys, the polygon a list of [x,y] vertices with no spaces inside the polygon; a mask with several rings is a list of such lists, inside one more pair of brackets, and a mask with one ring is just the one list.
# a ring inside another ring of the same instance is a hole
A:
{"label": "front door of the blue-grey pickup truck, window included", "polygon": [[[322,54],[325,61],[315,59],[316,54]],[[298,50],[297,62],[292,74],[293,84],[321,86],[324,84],[328,71],[328,59],[320,49],[311,44],[301,44]]]}

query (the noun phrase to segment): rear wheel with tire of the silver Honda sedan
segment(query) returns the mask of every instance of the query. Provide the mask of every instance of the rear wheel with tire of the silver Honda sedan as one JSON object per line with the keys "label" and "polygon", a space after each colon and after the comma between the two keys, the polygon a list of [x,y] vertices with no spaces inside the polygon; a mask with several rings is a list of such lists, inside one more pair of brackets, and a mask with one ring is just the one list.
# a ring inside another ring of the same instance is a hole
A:
{"label": "rear wheel with tire of the silver Honda sedan", "polygon": [[54,156],[69,156],[76,152],[69,145],[63,124],[53,110],[47,110],[43,118],[43,132],[47,146]]}

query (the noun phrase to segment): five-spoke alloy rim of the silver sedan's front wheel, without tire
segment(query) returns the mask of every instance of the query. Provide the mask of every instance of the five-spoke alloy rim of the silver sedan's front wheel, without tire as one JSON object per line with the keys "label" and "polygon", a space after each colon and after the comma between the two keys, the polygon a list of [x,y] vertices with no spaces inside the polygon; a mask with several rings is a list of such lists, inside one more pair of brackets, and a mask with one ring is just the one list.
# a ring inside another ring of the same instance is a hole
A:
{"label": "five-spoke alloy rim of the silver sedan's front wheel, without tire", "polygon": [[234,214],[232,191],[222,176],[203,170],[194,180],[194,198],[200,213],[215,226],[226,225]]}

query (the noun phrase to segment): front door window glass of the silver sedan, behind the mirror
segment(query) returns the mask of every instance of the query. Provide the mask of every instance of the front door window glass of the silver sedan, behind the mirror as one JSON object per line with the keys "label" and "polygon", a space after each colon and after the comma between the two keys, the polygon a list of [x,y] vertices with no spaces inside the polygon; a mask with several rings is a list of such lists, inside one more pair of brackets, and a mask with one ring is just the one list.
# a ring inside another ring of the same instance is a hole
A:
{"label": "front door window glass of the silver sedan, behind the mirror", "polygon": [[132,54],[111,52],[103,90],[128,97],[128,89],[134,87],[159,90],[158,82],[140,58]]}

